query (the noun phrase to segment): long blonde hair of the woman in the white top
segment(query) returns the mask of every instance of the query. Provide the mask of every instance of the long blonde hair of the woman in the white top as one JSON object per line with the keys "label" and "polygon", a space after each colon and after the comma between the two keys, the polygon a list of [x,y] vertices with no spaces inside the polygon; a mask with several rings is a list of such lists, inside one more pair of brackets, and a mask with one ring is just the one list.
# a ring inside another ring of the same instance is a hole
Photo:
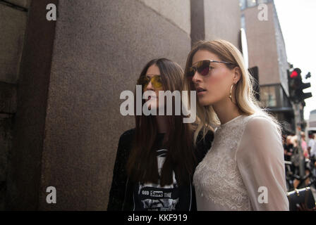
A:
{"label": "long blonde hair of the woman in the white top", "polygon": [[[260,103],[255,98],[255,91],[253,90],[254,79],[245,68],[241,52],[229,41],[222,39],[214,41],[197,41],[197,43],[193,46],[193,49],[188,54],[186,69],[184,71],[185,76],[192,65],[193,56],[199,50],[206,50],[214,53],[220,60],[231,63],[231,65],[225,64],[226,67],[231,70],[236,66],[241,69],[241,79],[237,82],[235,89],[237,107],[244,115],[257,114],[271,120],[281,136],[281,126],[279,125],[279,122],[269,115],[266,109],[260,108]],[[190,91],[195,91],[195,87],[192,82],[188,82],[188,79],[185,79],[184,89],[188,91],[188,102],[190,103]],[[201,129],[203,130],[204,137],[209,129],[214,131],[214,127],[217,127],[220,124],[219,118],[214,112],[212,105],[202,106],[197,101],[196,107],[197,129],[194,134],[194,142],[196,141],[197,134],[199,134]]]}

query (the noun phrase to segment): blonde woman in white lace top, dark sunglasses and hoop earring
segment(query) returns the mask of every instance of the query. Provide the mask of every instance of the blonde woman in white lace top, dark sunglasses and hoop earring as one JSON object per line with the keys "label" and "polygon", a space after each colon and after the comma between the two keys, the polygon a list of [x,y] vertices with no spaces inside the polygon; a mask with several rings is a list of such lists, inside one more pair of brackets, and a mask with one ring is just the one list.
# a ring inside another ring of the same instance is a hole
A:
{"label": "blonde woman in white lace top, dark sunglasses and hoop earring", "polygon": [[195,131],[214,128],[195,169],[197,210],[288,210],[280,127],[257,106],[243,57],[224,40],[200,41],[188,55],[186,88],[197,91]]}

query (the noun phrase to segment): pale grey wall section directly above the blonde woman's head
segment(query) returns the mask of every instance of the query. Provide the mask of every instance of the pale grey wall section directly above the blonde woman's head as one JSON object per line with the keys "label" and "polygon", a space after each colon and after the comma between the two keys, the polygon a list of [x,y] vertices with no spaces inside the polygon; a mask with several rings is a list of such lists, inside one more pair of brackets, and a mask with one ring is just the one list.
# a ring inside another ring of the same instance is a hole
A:
{"label": "pale grey wall section directly above the blonde woman's head", "polygon": [[225,39],[239,47],[241,9],[238,0],[204,1],[205,39]]}

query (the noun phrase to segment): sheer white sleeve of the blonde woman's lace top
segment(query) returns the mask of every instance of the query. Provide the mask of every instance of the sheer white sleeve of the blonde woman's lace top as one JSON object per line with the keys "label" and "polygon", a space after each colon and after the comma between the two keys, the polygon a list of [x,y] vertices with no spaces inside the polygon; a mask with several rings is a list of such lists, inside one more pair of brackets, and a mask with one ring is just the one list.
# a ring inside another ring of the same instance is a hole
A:
{"label": "sheer white sleeve of the blonde woman's lace top", "polygon": [[277,127],[266,117],[250,117],[236,162],[253,210],[288,210],[284,152]]}

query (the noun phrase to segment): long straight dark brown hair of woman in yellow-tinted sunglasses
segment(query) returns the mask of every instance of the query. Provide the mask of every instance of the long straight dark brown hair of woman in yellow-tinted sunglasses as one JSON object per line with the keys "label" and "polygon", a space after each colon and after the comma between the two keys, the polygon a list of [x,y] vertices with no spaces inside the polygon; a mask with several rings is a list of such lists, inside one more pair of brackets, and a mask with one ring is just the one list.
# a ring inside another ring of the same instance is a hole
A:
{"label": "long straight dark brown hair of woman in yellow-tinted sunglasses", "polygon": [[[182,91],[183,70],[180,65],[166,58],[151,60],[142,69],[140,77],[145,76],[151,65],[157,65],[162,79],[164,91]],[[134,101],[136,102],[136,101]],[[142,105],[145,100],[142,100]],[[172,99],[172,115],[165,115],[168,121],[168,140],[165,143],[168,153],[162,167],[161,176],[158,174],[157,153],[154,141],[157,138],[157,122],[154,116],[135,114],[135,136],[126,169],[128,176],[135,182],[152,182],[161,186],[173,183],[173,171],[178,184],[188,184],[196,166],[193,153],[193,125],[183,123],[184,115],[175,115],[174,98]]]}

